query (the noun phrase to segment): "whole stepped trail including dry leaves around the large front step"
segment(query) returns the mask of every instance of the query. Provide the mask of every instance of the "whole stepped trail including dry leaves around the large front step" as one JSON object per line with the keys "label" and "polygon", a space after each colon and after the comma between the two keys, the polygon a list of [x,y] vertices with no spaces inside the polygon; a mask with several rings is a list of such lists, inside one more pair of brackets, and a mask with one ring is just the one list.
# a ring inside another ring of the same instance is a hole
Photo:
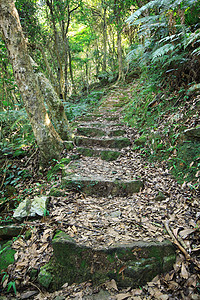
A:
{"label": "whole stepped trail including dry leaves around the large front step", "polygon": [[169,284],[173,276],[190,279],[190,262],[181,253],[173,269],[176,252],[165,225],[182,233],[190,252],[197,202],[164,163],[151,164],[132,150],[136,131],[122,117],[127,95],[125,89],[111,90],[97,110],[76,120],[76,148],[68,155],[78,151],[79,160],[70,161],[51,188],[57,195],[46,191],[49,217],[26,222],[35,228],[31,239],[14,242],[13,276],[27,284],[30,270],[39,269],[37,280],[47,289],[67,282],[34,299],[146,299],[145,293],[164,293],[159,277],[145,285],[157,274],[170,271],[164,277]]}

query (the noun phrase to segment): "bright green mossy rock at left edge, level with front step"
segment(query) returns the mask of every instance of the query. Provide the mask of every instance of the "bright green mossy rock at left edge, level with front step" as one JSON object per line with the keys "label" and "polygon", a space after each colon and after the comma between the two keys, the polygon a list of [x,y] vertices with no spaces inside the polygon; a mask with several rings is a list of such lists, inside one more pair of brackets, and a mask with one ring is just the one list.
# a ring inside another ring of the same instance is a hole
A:
{"label": "bright green mossy rock at left edge, level with front step", "polygon": [[11,248],[12,241],[0,243],[0,273],[2,270],[7,269],[10,264],[13,264],[16,251]]}

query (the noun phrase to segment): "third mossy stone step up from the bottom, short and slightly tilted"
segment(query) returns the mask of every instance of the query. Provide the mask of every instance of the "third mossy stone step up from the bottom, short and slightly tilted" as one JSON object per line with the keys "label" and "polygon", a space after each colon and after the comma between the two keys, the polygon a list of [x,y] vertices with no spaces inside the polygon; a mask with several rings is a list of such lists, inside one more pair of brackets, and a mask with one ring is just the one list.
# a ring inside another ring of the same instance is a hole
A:
{"label": "third mossy stone step up from the bottom, short and slightly tilted", "polygon": [[77,147],[77,151],[84,156],[89,156],[89,157],[96,156],[106,161],[116,160],[121,154],[121,152],[119,151],[93,149],[93,148],[85,148],[85,147]]}

